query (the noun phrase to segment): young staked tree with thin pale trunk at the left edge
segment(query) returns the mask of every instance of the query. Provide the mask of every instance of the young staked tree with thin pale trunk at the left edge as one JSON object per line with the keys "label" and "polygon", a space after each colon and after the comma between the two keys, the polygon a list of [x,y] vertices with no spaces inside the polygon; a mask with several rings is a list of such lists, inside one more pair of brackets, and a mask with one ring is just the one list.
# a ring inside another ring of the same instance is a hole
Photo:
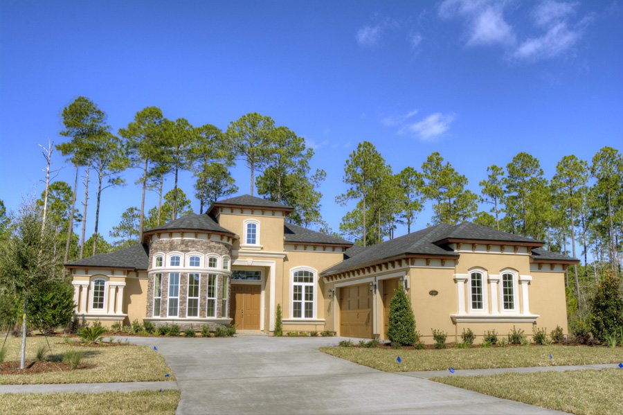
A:
{"label": "young staked tree with thin pale trunk at the left edge", "polygon": [[[28,300],[42,285],[60,279],[60,261],[54,252],[55,232],[42,220],[34,202],[22,204],[15,232],[0,247],[0,285],[15,292],[28,315]],[[20,369],[26,360],[26,319],[22,321]]]}

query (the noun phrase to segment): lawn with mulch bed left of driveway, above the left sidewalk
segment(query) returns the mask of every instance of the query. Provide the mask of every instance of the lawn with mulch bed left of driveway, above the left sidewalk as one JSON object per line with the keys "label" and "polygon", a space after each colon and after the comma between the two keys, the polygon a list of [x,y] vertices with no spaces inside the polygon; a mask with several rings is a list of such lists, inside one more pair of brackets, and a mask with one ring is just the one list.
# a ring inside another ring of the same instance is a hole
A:
{"label": "lawn with mulch bed left of driveway, above the left sidewalk", "polygon": [[[52,353],[50,360],[62,360],[67,351],[84,351],[81,364],[95,365],[89,369],[56,371],[47,373],[6,374],[0,376],[0,385],[24,385],[36,383],[97,383],[140,382],[150,380],[174,380],[164,357],[146,346],[77,346],[77,339],[66,343],[59,337],[49,338]],[[39,346],[45,345],[44,337],[28,337],[26,360],[35,360]],[[1,346],[1,343],[0,343]],[[5,362],[19,361],[21,338],[9,337]],[[168,378],[165,375],[170,374]]]}

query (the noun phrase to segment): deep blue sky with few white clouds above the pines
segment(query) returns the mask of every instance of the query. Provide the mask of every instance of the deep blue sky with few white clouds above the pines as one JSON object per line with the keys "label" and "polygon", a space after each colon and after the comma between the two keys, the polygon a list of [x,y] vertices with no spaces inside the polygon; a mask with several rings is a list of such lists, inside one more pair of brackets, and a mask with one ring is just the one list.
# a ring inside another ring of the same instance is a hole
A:
{"label": "deep blue sky with few white clouds above the pines", "polygon": [[[363,140],[395,172],[439,151],[473,191],[521,151],[550,177],[566,154],[623,148],[622,18],[617,1],[3,0],[0,199],[16,209],[39,195],[38,144],[63,140],[60,113],[80,95],[114,131],[149,105],[222,129],[247,112],[273,117],[315,148],[334,229],[343,165]],[[105,236],[140,203],[137,175],[103,194]],[[244,164],[233,175],[248,193]],[[192,182],[182,174],[189,195]]]}

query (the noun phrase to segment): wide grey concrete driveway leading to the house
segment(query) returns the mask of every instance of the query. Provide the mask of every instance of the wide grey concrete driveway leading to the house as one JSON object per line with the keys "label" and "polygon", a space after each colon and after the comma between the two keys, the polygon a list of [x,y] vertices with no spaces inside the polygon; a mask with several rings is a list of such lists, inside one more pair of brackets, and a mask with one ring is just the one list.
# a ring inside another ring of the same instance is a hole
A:
{"label": "wide grey concrete driveway leading to the house", "polygon": [[140,338],[177,376],[178,414],[553,414],[320,353],[339,337]]}

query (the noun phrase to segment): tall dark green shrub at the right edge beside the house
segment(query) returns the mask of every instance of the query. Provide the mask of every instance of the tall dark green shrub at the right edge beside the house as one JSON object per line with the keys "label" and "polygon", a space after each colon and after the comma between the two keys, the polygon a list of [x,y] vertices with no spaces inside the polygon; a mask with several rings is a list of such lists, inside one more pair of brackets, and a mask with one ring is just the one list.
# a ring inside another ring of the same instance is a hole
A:
{"label": "tall dark green shrub at the right edge beside the house", "polygon": [[606,335],[623,328],[623,292],[621,280],[614,272],[608,272],[597,284],[590,307],[590,328],[602,342]]}

